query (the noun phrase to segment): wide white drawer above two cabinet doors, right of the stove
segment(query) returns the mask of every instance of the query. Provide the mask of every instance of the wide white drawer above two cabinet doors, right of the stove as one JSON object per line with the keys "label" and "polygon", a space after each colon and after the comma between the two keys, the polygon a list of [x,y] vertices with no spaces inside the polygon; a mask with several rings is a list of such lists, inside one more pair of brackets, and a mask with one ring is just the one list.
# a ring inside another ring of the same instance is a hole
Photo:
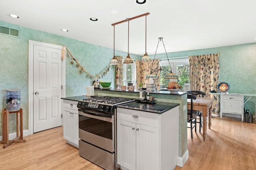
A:
{"label": "wide white drawer above two cabinet doors, right of the stove", "polygon": [[159,127],[159,116],[160,114],[146,111],[117,108],[117,119],[152,127]]}

